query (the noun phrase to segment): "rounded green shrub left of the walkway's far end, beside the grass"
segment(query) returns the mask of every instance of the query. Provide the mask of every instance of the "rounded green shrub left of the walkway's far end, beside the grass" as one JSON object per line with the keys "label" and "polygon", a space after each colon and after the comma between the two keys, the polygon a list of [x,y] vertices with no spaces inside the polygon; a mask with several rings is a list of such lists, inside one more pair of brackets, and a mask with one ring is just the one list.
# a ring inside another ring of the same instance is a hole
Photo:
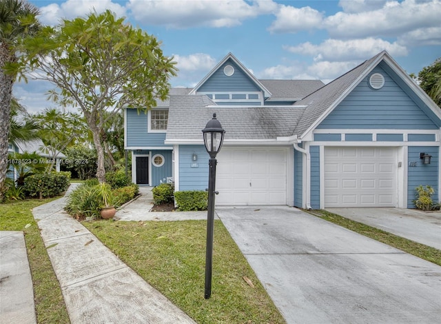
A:
{"label": "rounded green shrub left of the walkway's far end, beside the grass", "polygon": [[58,196],[65,192],[69,187],[68,177],[64,174],[41,173],[33,174],[25,179],[23,185],[24,192],[31,197],[39,198]]}

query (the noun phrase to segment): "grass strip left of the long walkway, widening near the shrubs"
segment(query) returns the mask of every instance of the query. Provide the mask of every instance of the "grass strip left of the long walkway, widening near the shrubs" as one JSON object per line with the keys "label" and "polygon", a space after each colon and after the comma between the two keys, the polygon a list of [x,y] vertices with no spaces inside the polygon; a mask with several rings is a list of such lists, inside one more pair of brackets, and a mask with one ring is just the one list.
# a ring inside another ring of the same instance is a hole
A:
{"label": "grass strip left of the long walkway, widening near the shrubs", "polygon": [[23,231],[34,283],[37,323],[70,323],[52,263],[41,240],[32,208],[54,199],[27,199],[0,204],[0,230]]}

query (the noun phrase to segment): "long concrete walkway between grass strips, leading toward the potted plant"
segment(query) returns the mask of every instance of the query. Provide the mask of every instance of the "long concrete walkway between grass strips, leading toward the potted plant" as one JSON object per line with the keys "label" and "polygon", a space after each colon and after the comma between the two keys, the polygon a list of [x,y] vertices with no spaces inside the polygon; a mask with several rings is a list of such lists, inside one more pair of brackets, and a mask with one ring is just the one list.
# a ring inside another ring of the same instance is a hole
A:
{"label": "long concrete walkway between grass strips, leading toward the potted plant", "polygon": [[34,208],[72,324],[195,323],[63,211],[65,198]]}

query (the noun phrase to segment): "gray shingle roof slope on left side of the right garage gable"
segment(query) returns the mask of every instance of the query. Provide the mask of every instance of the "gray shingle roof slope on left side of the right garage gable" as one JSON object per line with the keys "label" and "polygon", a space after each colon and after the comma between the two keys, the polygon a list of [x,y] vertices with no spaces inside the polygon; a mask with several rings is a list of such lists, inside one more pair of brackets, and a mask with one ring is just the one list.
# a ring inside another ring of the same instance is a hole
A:
{"label": "gray shingle roof slope on left side of the right garage gable", "polygon": [[308,130],[317,119],[331,107],[348,88],[357,81],[357,79],[369,68],[371,64],[385,52],[380,52],[371,59],[361,63],[356,68],[331,81],[316,92],[309,94],[304,99],[297,101],[294,105],[306,105],[307,108],[300,119],[294,134],[299,137]]}

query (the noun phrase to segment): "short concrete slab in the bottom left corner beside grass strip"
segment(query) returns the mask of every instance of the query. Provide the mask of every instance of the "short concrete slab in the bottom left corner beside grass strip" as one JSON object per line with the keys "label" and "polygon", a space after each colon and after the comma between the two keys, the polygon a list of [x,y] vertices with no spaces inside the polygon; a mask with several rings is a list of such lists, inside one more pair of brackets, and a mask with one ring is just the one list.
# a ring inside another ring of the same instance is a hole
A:
{"label": "short concrete slab in the bottom left corner beside grass strip", "polygon": [[0,322],[37,323],[23,232],[0,231]]}

